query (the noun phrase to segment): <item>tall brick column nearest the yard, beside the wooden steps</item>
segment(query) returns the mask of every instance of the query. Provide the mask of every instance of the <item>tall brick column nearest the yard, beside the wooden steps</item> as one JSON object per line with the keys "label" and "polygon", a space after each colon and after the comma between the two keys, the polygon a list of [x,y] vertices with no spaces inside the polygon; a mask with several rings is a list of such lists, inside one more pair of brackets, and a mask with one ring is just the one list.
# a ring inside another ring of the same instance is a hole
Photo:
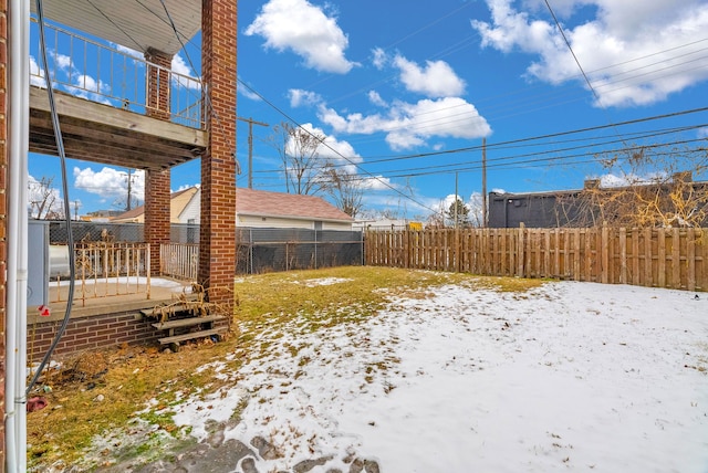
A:
{"label": "tall brick column nearest the yard, beside the wooden steps", "polygon": [[201,158],[199,282],[233,311],[236,275],[237,0],[201,2],[201,72],[208,145]]}

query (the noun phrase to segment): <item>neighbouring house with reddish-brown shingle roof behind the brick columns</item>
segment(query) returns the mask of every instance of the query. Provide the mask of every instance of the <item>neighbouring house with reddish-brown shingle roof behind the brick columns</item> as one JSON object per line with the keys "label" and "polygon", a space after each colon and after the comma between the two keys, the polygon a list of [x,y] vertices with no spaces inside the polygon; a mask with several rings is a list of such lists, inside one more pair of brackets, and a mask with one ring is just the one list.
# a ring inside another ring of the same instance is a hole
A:
{"label": "neighbouring house with reddish-brown shingle roof behind the brick columns", "polygon": [[[189,199],[184,192],[191,190]],[[201,190],[190,188],[171,197],[173,223],[199,223]],[[125,212],[114,222],[142,222],[143,207]],[[352,230],[353,219],[314,196],[270,192],[253,189],[236,190],[237,227],[296,228],[309,230]]]}

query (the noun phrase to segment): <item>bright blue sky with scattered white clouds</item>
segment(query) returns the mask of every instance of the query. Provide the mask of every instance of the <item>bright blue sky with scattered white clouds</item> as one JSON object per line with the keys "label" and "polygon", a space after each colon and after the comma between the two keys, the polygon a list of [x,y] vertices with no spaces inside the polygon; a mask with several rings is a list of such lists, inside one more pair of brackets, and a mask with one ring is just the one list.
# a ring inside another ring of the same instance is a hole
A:
{"label": "bright blue sky with scattered white clouds", "polygon": [[[482,138],[487,190],[510,192],[622,181],[595,159],[608,149],[706,147],[708,113],[686,112],[708,106],[708,1],[548,3],[552,12],[544,0],[242,0],[238,115],[326,136],[322,155],[366,178],[364,213],[416,219],[447,206],[456,181],[462,200],[477,199]],[[198,41],[176,70],[199,66]],[[623,125],[663,115],[673,116]],[[285,191],[271,127],[253,126],[253,187]],[[239,122],[239,187],[247,137]],[[126,169],[69,166],[79,213],[125,204]],[[58,158],[31,155],[29,170],[59,187]],[[198,181],[198,162],[173,170],[174,190]]]}

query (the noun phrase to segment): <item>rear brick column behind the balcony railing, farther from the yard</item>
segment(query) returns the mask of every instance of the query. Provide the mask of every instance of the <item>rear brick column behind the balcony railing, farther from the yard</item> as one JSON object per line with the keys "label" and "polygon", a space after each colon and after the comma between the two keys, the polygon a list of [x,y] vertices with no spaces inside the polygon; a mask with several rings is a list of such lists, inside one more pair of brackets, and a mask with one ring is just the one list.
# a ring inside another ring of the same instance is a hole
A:
{"label": "rear brick column behind the balcony railing, farther from the yard", "polygon": [[[149,49],[145,60],[156,65],[148,65],[147,70],[146,114],[169,120],[169,71],[173,57]],[[150,244],[153,275],[159,274],[159,245],[169,243],[169,169],[148,169],[145,172],[145,241]]]}

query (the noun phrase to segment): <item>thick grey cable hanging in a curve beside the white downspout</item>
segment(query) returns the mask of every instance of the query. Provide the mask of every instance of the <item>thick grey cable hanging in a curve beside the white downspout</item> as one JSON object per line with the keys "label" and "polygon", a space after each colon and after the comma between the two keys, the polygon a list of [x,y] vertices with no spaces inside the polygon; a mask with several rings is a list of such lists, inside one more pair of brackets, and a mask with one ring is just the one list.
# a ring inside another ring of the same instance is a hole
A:
{"label": "thick grey cable hanging in a curve beside the white downspout", "polygon": [[[46,59],[46,43],[44,39],[44,11],[42,7],[42,0],[34,0],[34,3],[37,7],[37,17],[38,17],[38,23],[39,23],[40,50],[42,52],[41,54],[42,62],[44,63],[44,69],[49,71],[48,59]],[[59,345],[59,340],[61,339],[61,337],[64,335],[64,332],[66,330],[66,326],[69,325],[69,319],[71,317],[71,307],[74,302],[74,286],[75,286],[74,277],[76,275],[75,274],[76,269],[74,267],[75,266],[74,238],[72,235],[72,230],[71,230],[71,209],[69,207],[70,199],[69,199],[69,185],[67,185],[69,178],[66,175],[66,153],[64,150],[64,140],[62,137],[62,130],[59,123],[59,114],[56,113],[56,104],[54,102],[54,88],[52,86],[52,77],[50,76],[49,72],[46,74],[46,94],[49,96],[50,115],[52,117],[52,126],[54,128],[54,140],[56,141],[56,151],[59,154],[60,167],[62,171],[62,191],[64,192],[63,203],[64,203],[64,218],[66,221],[66,233],[67,233],[66,245],[69,246],[69,267],[70,267],[71,280],[69,282],[69,294],[66,296],[66,309],[64,312],[64,318],[62,320],[61,326],[59,327],[59,330],[56,330],[56,335],[54,336],[52,344],[50,345],[49,349],[44,354],[42,361],[40,361],[40,365],[37,367],[37,371],[34,372],[32,380],[29,382],[27,387],[27,390],[25,390],[27,395],[31,392],[32,388],[37,383],[37,380],[42,374],[42,370],[44,369],[50,358],[52,357],[54,349],[56,349],[56,345]]]}

